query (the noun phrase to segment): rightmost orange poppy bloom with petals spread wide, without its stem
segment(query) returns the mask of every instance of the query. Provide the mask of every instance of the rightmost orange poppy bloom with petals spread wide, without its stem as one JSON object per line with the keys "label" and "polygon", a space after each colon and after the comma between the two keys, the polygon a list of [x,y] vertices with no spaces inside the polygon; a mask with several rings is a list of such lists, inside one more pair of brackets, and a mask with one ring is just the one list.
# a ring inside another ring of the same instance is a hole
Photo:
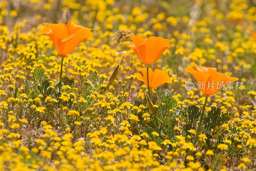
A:
{"label": "rightmost orange poppy bloom with petals spread wide, without its stem", "polygon": [[238,78],[217,72],[217,68],[211,67],[186,67],[185,71],[192,74],[204,95],[210,96],[216,94],[223,86],[229,82],[237,81]]}

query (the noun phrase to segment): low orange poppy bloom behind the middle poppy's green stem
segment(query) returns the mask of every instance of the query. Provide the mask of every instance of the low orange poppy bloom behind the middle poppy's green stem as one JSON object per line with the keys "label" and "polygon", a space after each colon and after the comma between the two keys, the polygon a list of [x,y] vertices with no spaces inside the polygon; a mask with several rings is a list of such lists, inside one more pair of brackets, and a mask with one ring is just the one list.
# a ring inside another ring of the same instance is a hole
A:
{"label": "low orange poppy bloom behind the middle poppy's green stem", "polygon": [[172,79],[168,75],[167,72],[162,71],[160,69],[155,69],[154,72],[151,68],[148,68],[148,79],[147,79],[147,68],[137,68],[140,72],[142,72],[143,76],[140,73],[135,73],[134,75],[136,78],[142,82],[145,82],[146,86],[148,87],[148,81],[149,81],[149,87],[156,88],[164,83],[172,83]]}

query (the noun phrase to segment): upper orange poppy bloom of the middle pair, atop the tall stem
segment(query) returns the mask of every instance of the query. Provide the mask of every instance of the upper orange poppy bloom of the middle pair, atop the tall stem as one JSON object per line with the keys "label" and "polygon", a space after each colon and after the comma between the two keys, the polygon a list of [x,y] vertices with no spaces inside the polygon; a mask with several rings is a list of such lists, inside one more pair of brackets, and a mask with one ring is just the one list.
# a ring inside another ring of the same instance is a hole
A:
{"label": "upper orange poppy bloom of the middle pair, atop the tall stem", "polygon": [[128,43],[128,45],[146,65],[150,65],[155,62],[156,59],[158,59],[170,46],[171,42],[169,39],[154,36],[144,39],[140,36],[130,35],[130,38],[132,39],[132,42]]}

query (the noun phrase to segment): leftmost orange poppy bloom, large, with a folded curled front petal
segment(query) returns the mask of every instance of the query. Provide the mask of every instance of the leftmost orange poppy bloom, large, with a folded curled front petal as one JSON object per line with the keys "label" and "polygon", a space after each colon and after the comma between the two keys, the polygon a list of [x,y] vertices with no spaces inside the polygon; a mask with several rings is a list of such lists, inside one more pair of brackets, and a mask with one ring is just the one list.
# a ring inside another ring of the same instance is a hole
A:
{"label": "leftmost orange poppy bloom, large, with a folded curled front petal", "polygon": [[52,39],[55,49],[62,57],[67,56],[85,39],[93,37],[92,28],[85,28],[73,22],[69,22],[67,25],[64,23],[44,24],[46,26],[37,36],[42,33],[48,35]]}

